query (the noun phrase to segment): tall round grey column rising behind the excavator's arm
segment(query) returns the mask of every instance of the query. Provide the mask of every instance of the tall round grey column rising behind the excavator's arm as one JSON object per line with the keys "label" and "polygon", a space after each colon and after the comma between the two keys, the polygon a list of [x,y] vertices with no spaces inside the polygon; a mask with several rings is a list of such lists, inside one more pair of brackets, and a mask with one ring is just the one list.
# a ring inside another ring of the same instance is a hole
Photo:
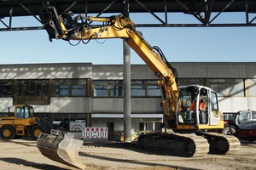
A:
{"label": "tall round grey column rising behind the excavator's arm", "polygon": [[[124,0],[124,12],[129,17],[129,0]],[[124,137],[131,142],[131,49],[124,41]]]}

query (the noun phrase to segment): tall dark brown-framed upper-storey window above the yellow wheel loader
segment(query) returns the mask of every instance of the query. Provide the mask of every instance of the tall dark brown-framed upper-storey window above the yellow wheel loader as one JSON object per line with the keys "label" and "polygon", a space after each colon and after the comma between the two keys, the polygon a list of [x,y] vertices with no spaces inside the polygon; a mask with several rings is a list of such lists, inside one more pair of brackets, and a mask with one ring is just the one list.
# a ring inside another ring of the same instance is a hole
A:
{"label": "tall dark brown-framed upper-storey window above the yellow wheel loader", "polygon": [[15,104],[49,104],[48,80],[16,80]]}

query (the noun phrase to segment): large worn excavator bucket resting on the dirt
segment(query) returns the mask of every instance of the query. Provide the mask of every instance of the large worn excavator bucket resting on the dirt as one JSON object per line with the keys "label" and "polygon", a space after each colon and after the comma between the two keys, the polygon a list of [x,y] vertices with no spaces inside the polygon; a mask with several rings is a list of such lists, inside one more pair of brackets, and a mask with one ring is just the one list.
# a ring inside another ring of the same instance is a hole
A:
{"label": "large worn excavator bucket resting on the dirt", "polygon": [[50,134],[41,133],[37,140],[38,149],[43,156],[80,169],[85,168],[79,160],[79,148],[82,144],[82,140],[73,139],[72,133],[55,129]]}

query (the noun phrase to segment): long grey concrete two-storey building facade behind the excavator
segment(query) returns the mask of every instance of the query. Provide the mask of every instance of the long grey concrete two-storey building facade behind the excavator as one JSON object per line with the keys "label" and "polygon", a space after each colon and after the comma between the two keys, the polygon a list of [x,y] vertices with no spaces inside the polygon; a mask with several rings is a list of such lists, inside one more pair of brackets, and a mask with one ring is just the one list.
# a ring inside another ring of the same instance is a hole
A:
{"label": "long grey concrete two-storey building facade behind the excavator", "polygon": [[[182,62],[178,84],[200,84],[217,91],[224,113],[256,110],[256,63]],[[123,65],[0,65],[0,111],[29,104],[55,127],[108,127],[109,138],[124,130]],[[160,131],[162,108],[158,77],[147,65],[131,65],[131,134]]]}

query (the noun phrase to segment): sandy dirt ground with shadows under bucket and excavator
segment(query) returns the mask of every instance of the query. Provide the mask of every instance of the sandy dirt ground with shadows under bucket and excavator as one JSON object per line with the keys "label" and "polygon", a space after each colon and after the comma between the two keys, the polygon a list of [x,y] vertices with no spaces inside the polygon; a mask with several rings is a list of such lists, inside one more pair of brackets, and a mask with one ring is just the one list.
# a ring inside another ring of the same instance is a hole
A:
{"label": "sandy dirt ground with shadows under bucket and excavator", "polygon": [[[233,155],[164,156],[125,143],[84,143],[79,158],[90,170],[256,169],[256,143],[241,142]],[[0,169],[74,170],[40,154],[35,141],[0,140]]]}

